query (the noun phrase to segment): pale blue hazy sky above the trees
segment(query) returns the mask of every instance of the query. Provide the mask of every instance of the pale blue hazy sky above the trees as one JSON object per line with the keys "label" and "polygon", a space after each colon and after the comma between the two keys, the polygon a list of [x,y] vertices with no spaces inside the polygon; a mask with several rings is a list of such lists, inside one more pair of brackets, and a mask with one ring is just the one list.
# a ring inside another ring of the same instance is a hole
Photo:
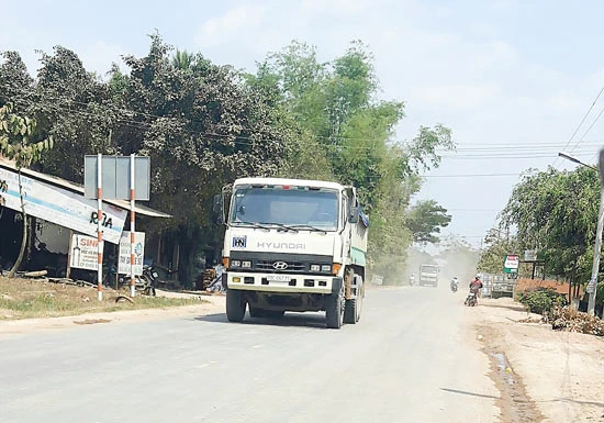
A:
{"label": "pale blue hazy sky above the trees", "polygon": [[599,0],[0,0],[0,51],[18,51],[32,74],[40,52],[61,45],[105,75],[122,55],[144,56],[155,30],[248,71],[292,40],[325,62],[360,40],[374,55],[378,99],[405,102],[393,141],[421,125],[451,129],[457,151],[425,174],[414,201],[437,200],[452,215],[444,234],[474,246],[522,172],[572,169],[561,151],[595,163],[604,145]]}

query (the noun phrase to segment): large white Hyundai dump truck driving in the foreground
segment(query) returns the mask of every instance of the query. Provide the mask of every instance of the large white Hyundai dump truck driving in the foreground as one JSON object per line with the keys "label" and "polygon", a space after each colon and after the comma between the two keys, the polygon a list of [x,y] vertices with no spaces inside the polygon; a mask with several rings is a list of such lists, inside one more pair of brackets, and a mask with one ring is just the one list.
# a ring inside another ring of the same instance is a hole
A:
{"label": "large white Hyundai dump truck driving in the foreground", "polygon": [[242,178],[228,210],[223,196],[226,318],[280,318],[325,311],[326,326],[360,319],[368,218],[354,187],[336,182]]}

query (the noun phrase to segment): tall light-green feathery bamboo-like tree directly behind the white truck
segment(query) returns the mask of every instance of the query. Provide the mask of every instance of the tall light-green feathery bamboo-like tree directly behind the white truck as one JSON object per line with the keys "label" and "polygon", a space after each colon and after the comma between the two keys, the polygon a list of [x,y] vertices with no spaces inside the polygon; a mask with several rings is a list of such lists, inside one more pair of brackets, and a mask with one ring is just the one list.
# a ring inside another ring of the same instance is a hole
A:
{"label": "tall light-green feathery bamboo-like tree directly behind the white truck", "polygon": [[373,57],[360,42],[328,63],[318,62],[315,47],[293,42],[268,55],[249,80],[271,92],[302,135],[286,166],[321,163],[325,170],[314,175],[356,186],[371,220],[370,263],[396,274],[411,243],[410,198],[421,187],[420,172],[438,166],[437,148],[452,147],[450,131],[421,127],[410,143],[392,143],[404,103],[378,100]]}

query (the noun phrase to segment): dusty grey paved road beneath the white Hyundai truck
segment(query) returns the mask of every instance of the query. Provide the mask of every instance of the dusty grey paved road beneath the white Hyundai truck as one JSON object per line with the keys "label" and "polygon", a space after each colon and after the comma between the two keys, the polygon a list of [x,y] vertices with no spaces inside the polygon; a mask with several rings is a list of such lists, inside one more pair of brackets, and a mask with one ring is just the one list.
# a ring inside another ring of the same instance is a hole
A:
{"label": "dusty grey paved road beneath the white Hyundai truck", "polygon": [[462,297],[370,290],[340,331],[288,313],[0,334],[0,422],[495,422]]}

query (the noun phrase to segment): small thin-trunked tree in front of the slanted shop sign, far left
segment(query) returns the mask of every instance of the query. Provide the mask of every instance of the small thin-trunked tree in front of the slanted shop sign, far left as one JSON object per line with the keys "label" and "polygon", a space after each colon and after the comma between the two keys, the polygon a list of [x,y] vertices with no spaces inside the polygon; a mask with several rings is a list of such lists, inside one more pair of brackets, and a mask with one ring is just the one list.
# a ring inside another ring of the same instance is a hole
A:
{"label": "small thin-trunked tree in front of the slanted shop sign, far left", "polygon": [[[23,214],[23,238],[19,256],[9,272],[14,277],[21,266],[25,245],[27,243],[27,213],[25,210],[23,183],[21,169],[29,167],[32,163],[40,162],[43,154],[53,147],[53,138],[43,141],[35,140],[36,122],[30,118],[23,118],[12,112],[12,104],[8,103],[0,108],[0,155],[14,160],[19,171],[19,197],[21,199],[21,212]],[[2,185],[5,187],[5,183]]]}

